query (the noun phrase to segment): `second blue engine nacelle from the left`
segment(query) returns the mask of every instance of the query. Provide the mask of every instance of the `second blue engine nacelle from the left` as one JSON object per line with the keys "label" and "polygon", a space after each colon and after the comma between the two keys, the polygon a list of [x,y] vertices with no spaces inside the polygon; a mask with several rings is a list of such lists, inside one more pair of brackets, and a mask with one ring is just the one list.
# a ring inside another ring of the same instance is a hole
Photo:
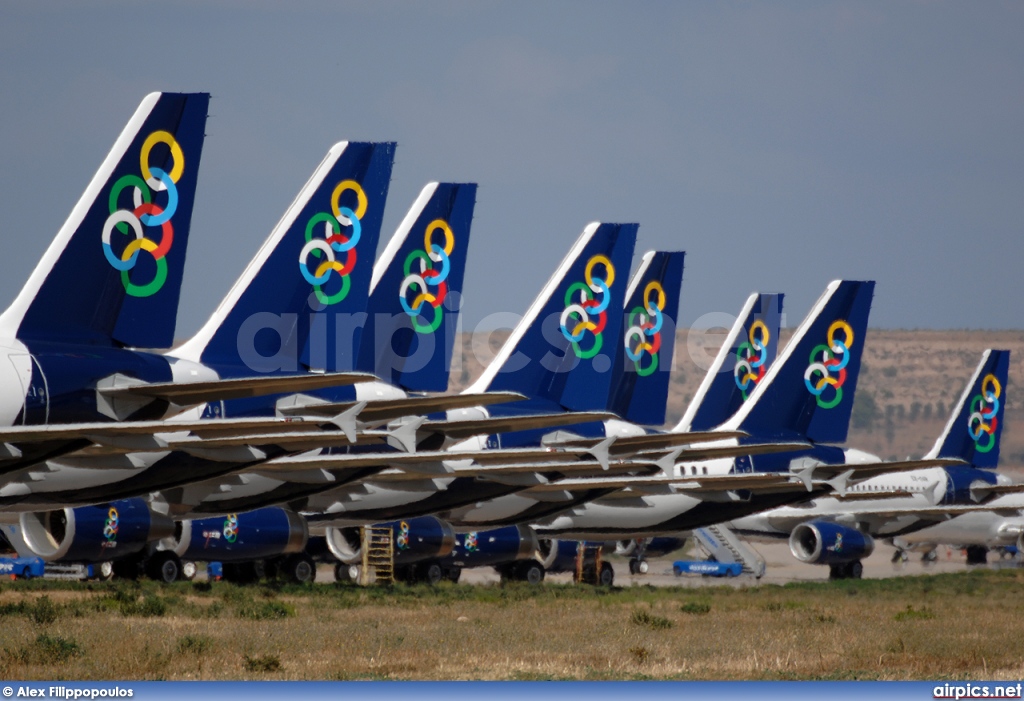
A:
{"label": "second blue engine nacelle from the left", "polygon": [[301,553],[309,528],[288,509],[270,507],[212,519],[181,521],[171,550],[182,560],[245,562]]}

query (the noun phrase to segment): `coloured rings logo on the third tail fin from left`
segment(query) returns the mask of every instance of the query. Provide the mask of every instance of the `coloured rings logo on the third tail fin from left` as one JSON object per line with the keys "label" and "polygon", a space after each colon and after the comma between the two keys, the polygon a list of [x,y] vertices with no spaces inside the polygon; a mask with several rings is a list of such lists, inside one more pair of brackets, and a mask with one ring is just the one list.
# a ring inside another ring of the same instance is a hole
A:
{"label": "coloured rings logo on the third tail fin from left", "polygon": [[[434,234],[438,231],[444,237],[443,246],[434,243]],[[427,224],[423,250],[413,251],[406,258],[402,267],[406,277],[398,289],[398,300],[413,319],[413,328],[420,334],[433,334],[441,325],[440,307],[447,296],[447,276],[452,271],[449,256],[453,249],[455,234],[452,227],[443,219],[434,219]],[[412,303],[409,301],[411,296]],[[434,310],[433,318],[426,321],[424,312],[431,308]]]}

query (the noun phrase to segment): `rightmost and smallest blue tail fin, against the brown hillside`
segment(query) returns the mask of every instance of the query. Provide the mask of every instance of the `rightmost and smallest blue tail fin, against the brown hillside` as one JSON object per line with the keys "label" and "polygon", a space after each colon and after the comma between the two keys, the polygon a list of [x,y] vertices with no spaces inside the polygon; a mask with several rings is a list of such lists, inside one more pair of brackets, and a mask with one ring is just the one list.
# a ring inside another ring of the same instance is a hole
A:
{"label": "rightmost and smallest blue tail fin, against the brown hillside", "polygon": [[927,457],[959,457],[976,468],[999,465],[1010,351],[987,350]]}

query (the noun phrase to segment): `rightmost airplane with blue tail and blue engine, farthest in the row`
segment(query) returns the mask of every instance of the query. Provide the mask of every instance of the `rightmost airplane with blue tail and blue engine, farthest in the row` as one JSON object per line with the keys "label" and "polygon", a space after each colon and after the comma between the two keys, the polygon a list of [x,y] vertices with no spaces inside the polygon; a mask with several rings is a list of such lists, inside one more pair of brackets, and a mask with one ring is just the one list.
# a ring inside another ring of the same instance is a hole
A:
{"label": "rightmost airplane with blue tail and blue engine, farthest in the row", "polygon": [[[860,578],[860,561],[874,550],[874,540],[905,539],[956,516],[961,507],[986,505],[993,497],[1024,490],[1024,485],[993,472],[998,465],[1009,368],[1010,351],[982,354],[945,430],[924,457],[949,458],[958,465],[880,475],[851,485],[845,494],[781,507],[728,525],[746,537],[787,538],[794,557],[828,565],[831,579]],[[879,459],[857,453],[859,462]]]}

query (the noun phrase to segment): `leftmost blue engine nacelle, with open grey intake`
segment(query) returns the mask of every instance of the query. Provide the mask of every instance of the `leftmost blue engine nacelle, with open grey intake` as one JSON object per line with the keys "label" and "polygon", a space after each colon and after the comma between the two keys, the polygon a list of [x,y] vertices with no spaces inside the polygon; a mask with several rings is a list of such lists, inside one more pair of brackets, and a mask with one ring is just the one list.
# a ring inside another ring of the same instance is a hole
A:
{"label": "leftmost blue engine nacelle, with open grey intake", "polygon": [[117,560],[174,532],[174,522],[141,498],[22,514],[18,523],[25,544],[46,562]]}

